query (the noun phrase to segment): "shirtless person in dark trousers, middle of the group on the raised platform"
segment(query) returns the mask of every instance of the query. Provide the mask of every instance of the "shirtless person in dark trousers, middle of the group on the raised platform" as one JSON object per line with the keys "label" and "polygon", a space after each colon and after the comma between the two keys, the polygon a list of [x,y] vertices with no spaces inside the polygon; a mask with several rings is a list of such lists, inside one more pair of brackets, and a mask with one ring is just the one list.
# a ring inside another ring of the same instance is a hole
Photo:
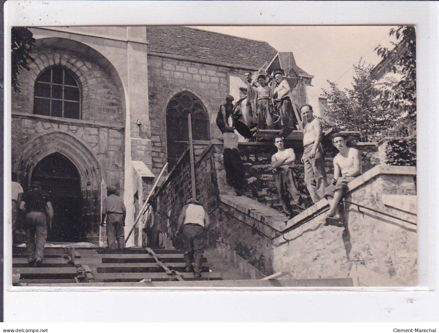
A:
{"label": "shirtless person in dark trousers, middle of the group on the raised platform", "polygon": [[271,90],[266,85],[266,76],[259,74],[258,86],[255,88],[255,105],[259,129],[273,129],[273,104]]}

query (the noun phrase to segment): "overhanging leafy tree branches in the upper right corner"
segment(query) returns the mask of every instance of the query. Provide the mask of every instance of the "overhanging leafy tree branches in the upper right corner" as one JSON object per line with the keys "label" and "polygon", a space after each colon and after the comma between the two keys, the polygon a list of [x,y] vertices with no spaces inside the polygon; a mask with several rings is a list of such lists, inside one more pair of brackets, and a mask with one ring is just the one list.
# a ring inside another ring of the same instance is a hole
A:
{"label": "overhanging leafy tree branches in the upper right corner", "polygon": [[383,59],[389,59],[392,72],[402,77],[393,84],[393,94],[384,99],[383,105],[403,108],[408,117],[416,118],[416,29],[415,26],[399,26],[390,29],[389,36],[396,37],[392,50],[379,45],[375,48]]}

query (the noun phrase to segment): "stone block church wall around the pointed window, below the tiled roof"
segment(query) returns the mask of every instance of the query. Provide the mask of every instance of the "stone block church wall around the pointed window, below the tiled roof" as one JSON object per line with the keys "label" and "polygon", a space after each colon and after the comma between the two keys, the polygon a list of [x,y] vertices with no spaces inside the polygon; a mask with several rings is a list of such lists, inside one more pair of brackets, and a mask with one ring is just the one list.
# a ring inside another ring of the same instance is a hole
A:
{"label": "stone block church wall around the pointed window, below the tiled roof", "polygon": [[[149,115],[151,141],[155,152],[163,156],[152,159],[152,172],[157,174],[167,161],[166,106],[181,91],[189,91],[200,99],[208,114],[211,139],[221,137],[216,126],[219,106],[229,93],[229,75],[244,77],[245,70],[213,66],[148,55]],[[160,148],[160,150],[158,150]]]}

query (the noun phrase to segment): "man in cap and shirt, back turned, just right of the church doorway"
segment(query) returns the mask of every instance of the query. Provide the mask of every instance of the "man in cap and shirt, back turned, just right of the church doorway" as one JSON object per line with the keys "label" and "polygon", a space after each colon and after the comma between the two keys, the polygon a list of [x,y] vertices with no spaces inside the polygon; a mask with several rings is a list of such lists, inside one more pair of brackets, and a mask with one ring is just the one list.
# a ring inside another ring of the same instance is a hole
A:
{"label": "man in cap and shirt, back turned, just right of the church doorway", "polygon": [[108,249],[116,249],[116,240],[119,249],[125,248],[125,216],[126,209],[122,198],[116,195],[116,187],[107,186],[108,197],[102,203],[101,227],[104,226],[105,216],[107,216],[107,244]]}

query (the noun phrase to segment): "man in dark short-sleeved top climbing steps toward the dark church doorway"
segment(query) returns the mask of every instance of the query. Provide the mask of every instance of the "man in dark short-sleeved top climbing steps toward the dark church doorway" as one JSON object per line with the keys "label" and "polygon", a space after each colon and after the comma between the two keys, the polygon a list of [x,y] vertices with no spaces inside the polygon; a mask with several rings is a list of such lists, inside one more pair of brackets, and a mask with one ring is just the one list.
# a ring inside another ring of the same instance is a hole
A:
{"label": "man in dark short-sleeved top climbing steps toward the dark church doorway", "polygon": [[49,195],[41,190],[41,182],[33,180],[20,202],[20,210],[26,212],[26,250],[30,267],[40,267],[44,257],[47,232],[52,227],[54,210]]}

